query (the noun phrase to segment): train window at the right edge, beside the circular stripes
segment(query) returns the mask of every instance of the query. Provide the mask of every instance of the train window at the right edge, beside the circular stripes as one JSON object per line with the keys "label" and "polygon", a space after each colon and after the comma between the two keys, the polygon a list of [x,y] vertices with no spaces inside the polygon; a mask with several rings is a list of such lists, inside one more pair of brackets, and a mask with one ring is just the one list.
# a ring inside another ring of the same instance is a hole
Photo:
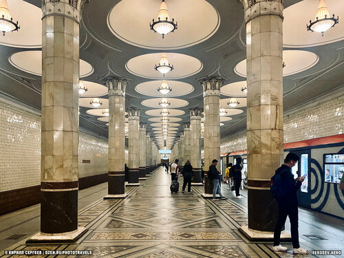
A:
{"label": "train window at the right edge, beside the circular stripes", "polygon": [[324,165],[325,182],[339,184],[344,173],[344,155],[325,154]]}

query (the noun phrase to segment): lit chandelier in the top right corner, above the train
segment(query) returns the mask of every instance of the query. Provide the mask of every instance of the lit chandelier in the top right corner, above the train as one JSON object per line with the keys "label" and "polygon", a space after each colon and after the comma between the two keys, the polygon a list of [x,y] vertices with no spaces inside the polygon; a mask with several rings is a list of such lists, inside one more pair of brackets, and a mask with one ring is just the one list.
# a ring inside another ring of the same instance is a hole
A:
{"label": "lit chandelier in the top right corner, above the train", "polygon": [[311,32],[319,32],[323,36],[323,34],[330,28],[334,27],[336,23],[338,23],[338,16],[337,18],[334,18],[333,14],[331,17],[325,0],[319,0],[318,10],[316,10],[315,14],[315,21],[312,22],[312,20],[310,20],[310,25],[307,25],[307,30],[310,30]]}

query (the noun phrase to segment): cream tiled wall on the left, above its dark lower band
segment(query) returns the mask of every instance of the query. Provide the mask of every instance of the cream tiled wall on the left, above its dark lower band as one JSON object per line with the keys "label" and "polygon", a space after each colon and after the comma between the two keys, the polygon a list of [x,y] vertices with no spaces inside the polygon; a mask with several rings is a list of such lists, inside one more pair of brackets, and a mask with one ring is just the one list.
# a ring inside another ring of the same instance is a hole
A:
{"label": "cream tiled wall on the left, above its dark lower band", "polygon": [[[107,149],[106,140],[79,133],[79,178],[107,173]],[[0,191],[41,184],[40,164],[40,116],[0,100]]]}

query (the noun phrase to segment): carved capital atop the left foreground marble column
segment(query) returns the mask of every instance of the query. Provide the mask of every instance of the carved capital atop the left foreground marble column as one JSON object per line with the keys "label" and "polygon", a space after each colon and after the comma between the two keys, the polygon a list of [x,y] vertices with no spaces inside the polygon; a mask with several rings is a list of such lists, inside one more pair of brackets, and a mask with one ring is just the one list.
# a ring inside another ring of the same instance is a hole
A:
{"label": "carved capital atop the left foreground marble column", "polygon": [[80,23],[81,9],[86,0],[41,0],[42,19],[49,16],[63,16]]}

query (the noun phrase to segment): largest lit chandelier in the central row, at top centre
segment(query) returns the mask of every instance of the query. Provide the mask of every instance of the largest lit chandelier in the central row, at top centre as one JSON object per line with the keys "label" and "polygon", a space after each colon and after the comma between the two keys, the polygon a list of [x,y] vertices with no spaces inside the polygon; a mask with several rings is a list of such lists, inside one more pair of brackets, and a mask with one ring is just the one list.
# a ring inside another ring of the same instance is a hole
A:
{"label": "largest lit chandelier in the central row, at top centre", "polygon": [[162,34],[162,39],[164,39],[164,36],[166,34],[177,30],[177,22],[174,23],[174,19],[172,19],[172,21],[169,21],[169,11],[167,10],[165,0],[162,0],[160,4],[158,21],[154,21],[153,19],[152,23],[149,23],[149,26],[154,32]]}

